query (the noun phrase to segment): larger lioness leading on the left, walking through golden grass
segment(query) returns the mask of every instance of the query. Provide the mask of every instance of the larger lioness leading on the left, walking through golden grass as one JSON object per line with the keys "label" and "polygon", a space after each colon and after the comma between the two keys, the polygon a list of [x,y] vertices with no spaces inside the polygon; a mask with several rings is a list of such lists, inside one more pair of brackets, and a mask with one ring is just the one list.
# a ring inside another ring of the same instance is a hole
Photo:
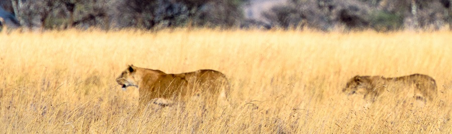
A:
{"label": "larger lioness leading on the left, walking through golden grass", "polygon": [[[172,101],[203,98],[204,102],[225,99],[229,92],[227,78],[215,70],[197,70],[180,74],[166,74],[160,70],[139,68],[130,65],[116,79],[123,90],[129,86],[139,90],[139,104],[149,103],[161,106],[171,105]],[[155,101],[155,100],[159,101]]]}

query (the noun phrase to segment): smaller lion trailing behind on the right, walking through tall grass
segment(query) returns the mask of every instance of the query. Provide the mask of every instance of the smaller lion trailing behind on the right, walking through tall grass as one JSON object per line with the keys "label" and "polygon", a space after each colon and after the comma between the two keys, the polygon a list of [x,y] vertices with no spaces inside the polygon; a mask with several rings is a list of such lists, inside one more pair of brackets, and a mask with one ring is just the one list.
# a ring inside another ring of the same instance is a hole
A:
{"label": "smaller lion trailing behind on the right, walking through tall grass", "polygon": [[[414,90],[413,90],[414,89]],[[433,100],[437,96],[436,82],[433,78],[423,74],[412,74],[408,76],[385,78],[383,76],[355,76],[347,82],[342,90],[349,95],[363,94],[365,99],[375,101],[384,92],[407,93],[416,100]],[[413,95],[413,96],[411,96]]]}

